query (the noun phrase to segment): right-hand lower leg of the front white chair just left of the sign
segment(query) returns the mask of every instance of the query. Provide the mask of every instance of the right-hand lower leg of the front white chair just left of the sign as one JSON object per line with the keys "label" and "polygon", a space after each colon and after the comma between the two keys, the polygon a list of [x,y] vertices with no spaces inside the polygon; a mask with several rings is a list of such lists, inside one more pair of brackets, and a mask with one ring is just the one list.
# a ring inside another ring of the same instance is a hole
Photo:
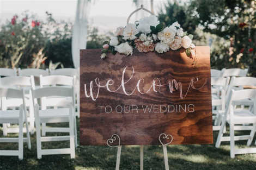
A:
{"label": "right-hand lower leg of the front white chair just left of the sign", "polygon": [[69,117],[69,142],[70,142],[70,158],[75,158],[75,137],[74,137],[74,113],[73,110],[70,109],[70,117]]}

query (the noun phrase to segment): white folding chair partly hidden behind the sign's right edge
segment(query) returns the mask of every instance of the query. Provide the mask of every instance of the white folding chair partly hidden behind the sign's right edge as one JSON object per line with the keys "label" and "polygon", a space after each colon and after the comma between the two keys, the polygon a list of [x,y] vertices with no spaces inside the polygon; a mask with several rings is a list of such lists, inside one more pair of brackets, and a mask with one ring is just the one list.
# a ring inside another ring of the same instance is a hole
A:
{"label": "white folding chair partly hidden behind the sign's right edge", "polygon": [[225,95],[227,92],[229,83],[229,77],[212,77],[211,86],[215,86],[219,89],[217,94],[214,94],[215,91],[212,91],[212,119],[215,121],[213,130],[220,130],[221,118],[225,111]]}

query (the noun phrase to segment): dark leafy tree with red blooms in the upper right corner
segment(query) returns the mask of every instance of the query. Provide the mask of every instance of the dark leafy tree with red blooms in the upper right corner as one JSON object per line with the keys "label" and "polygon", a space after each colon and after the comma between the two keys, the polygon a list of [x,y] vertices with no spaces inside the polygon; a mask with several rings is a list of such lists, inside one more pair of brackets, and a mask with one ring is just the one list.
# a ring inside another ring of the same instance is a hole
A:
{"label": "dark leafy tree with red blooms in the upper right corner", "polygon": [[[256,75],[255,26],[256,6],[251,0],[193,0],[189,15],[194,25],[204,32],[227,40],[229,46],[212,52],[211,64],[216,68],[249,68]],[[222,57],[220,57],[222,56]]]}

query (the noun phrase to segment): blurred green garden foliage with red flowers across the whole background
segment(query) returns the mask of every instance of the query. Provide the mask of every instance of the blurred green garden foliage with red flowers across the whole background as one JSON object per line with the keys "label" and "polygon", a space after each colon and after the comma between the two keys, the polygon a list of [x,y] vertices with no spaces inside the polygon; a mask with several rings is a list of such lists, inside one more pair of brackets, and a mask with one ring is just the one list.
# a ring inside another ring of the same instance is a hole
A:
{"label": "blurred green garden foliage with red flowers across the whole background", "polygon": [[[255,11],[256,3],[249,0],[191,0],[169,1],[156,15],[166,26],[178,21],[194,35],[197,46],[210,46],[212,68],[249,68],[249,75],[255,77]],[[72,24],[46,15],[43,22],[25,12],[3,24],[0,67],[74,67]],[[88,30],[87,48],[101,48],[111,35],[101,35],[97,28]]]}

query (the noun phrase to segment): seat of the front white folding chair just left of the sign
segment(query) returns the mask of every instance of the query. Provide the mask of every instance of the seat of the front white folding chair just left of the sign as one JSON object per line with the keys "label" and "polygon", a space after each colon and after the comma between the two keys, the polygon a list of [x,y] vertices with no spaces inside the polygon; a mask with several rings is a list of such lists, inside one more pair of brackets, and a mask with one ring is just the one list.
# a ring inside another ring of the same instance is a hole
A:
{"label": "seat of the front white folding chair just left of the sign", "polygon": [[69,110],[69,108],[40,110],[39,117],[44,123],[69,122]]}

